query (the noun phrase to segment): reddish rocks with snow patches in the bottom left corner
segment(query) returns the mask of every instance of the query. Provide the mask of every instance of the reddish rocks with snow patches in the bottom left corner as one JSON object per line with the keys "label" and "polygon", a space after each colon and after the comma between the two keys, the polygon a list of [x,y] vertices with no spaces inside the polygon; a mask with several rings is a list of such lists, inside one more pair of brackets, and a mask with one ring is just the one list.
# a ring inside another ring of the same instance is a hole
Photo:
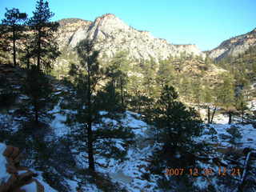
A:
{"label": "reddish rocks with snow patches in the bottom left corner", "polygon": [[44,192],[44,187],[26,167],[19,166],[17,147],[0,143],[0,192]]}

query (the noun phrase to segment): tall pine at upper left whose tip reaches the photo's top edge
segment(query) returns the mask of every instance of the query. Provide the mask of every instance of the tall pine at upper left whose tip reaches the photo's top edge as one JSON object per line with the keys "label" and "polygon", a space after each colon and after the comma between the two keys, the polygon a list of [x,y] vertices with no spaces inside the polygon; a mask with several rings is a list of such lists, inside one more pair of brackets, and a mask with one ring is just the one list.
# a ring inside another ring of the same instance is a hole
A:
{"label": "tall pine at upper left whose tip reaches the photo's top edge", "polygon": [[50,11],[48,2],[38,0],[33,17],[29,19],[28,26],[33,32],[31,35],[30,58],[34,58],[38,69],[49,70],[52,61],[58,57],[58,43],[54,38],[54,32],[58,30],[58,22],[50,22],[54,13]]}

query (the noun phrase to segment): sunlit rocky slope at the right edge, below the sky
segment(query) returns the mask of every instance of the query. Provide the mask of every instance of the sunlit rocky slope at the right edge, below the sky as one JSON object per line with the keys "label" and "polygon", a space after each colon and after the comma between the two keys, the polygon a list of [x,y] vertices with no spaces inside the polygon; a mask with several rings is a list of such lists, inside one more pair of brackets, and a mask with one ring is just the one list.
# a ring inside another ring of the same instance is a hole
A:
{"label": "sunlit rocky slope at the right edge, below the sky", "polygon": [[230,38],[221,43],[214,50],[210,50],[210,58],[220,60],[228,56],[238,56],[244,53],[250,46],[256,46],[256,29],[247,34],[242,34],[234,38]]}

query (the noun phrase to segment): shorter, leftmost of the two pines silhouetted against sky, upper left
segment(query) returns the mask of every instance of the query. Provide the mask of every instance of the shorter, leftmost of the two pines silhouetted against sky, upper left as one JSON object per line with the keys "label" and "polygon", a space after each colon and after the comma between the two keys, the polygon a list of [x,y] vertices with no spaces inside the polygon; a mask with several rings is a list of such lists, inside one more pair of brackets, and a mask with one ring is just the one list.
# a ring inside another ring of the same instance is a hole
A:
{"label": "shorter, leftmost of the two pines silhouetted against sky, upper left", "polygon": [[26,17],[25,13],[20,13],[18,9],[13,8],[6,9],[5,18],[2,20],[2,26],[4,26],[2,38],[6,40],[3,45],[6,46],[4,50],[8,50],[8,47],[10,49],[10,44],[12,45],[10,50],[12,50],[14,66],[17,66],[17,41],[22,38]]}

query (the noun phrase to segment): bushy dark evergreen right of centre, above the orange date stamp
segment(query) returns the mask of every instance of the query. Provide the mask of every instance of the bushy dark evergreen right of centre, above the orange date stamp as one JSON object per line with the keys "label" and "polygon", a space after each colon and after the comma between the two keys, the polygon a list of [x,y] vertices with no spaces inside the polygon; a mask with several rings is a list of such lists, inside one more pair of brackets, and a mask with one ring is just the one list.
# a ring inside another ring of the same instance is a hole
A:
{"label": "bushy dark evergreen right of centre, above the orange date stamp", "polygon": [[[198,114],[186,109],[177,101],[178,94],[172,86],[165,86],[154,110],[155,126],[159,130],[159,142],[172,150],[186,149],[194,136],[201,133]],[[187,149],[188,150],[188,149]]]}

